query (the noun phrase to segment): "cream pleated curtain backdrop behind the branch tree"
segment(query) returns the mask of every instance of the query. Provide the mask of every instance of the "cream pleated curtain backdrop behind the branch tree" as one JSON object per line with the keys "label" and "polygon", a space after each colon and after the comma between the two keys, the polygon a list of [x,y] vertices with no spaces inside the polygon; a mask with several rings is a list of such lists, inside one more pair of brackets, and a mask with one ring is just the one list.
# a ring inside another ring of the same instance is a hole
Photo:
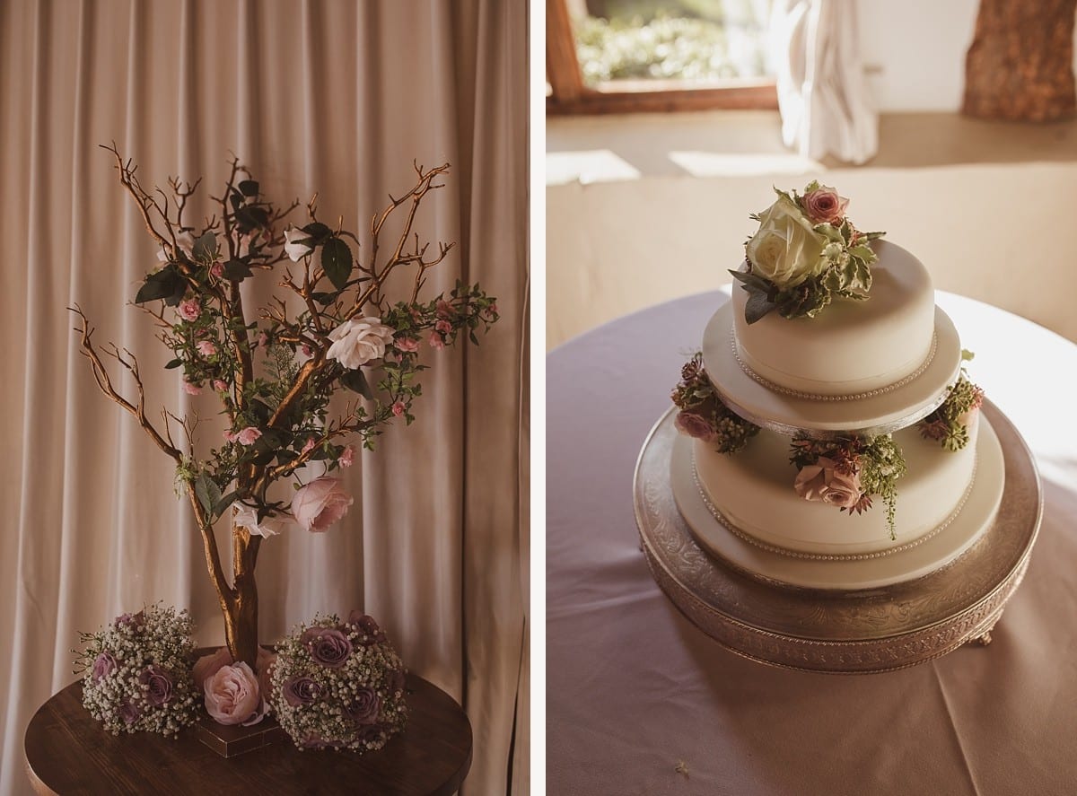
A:
{"label": "cream pleated curtain backdrop behind the branch tree", "polygon": [[[356,231],[410,187],[412,159],[452,164],[419,229],[459,248],[428,290],[479,281],[501,322],[478,348],[425,351],[418,420],[345,471],[355,504],[338,527],[263,546],[261,634],[374,614],[467,711],[463,793],[528,792],[527,14],[501,0],[0,3],[0,793],[28,792],[23,732],[73,680],[76,630],[163,600],[191,608],[199,641],[223,639],[169,460],[97,392],[65,309],[138,355],[151,405],[200,409],[215,444],[212,402],[181,391],[126,306],[155,250],[98,149],[113,140],[145,184],[205,176],[194,218],[235,153],[279,203],[318,191],[320,213]],[[257,281],[264,304],[271,280]]]}

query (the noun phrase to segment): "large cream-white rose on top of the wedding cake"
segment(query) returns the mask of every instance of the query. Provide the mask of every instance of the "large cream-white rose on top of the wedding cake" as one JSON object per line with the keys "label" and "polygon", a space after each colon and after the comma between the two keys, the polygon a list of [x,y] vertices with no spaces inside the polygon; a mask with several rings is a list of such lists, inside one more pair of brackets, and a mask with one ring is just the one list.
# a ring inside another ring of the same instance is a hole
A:
{"label": "large cream-white rose on top of the wedding cake", "polygon": [[792,288],[820,273],[826,241],[791,199],[778,201],[759,214],[759,232],[747,242],[753,273],[779,288]]}

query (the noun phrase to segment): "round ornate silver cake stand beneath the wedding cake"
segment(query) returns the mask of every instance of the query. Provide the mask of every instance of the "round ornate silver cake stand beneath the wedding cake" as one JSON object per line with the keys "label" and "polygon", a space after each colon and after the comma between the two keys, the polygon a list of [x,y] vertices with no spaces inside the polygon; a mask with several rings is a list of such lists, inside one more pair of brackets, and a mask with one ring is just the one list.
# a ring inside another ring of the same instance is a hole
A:
{"label": "round ornate silver cake stand beneath the wedding cake", "polygon": [[670,486],[673,411],[652,429],[635,465],[635,520],[655,581],[703,632],[739,655],[773,666],[833,673],[904,669],[991,629],[1017,590],[1043,511],[1039,475],[1013,424],[993,404],[1006,485],[998,515],[946,568],[917,581],[865,591],[785,587],[711,558],[677,512]]}

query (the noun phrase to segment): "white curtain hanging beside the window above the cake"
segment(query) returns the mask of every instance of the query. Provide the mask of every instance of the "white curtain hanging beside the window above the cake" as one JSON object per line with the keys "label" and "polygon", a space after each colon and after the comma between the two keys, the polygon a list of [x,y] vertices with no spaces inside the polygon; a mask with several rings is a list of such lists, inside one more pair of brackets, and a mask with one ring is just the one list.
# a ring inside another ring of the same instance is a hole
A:
{"label": "white curtain hanging beside the window above the cake", "polygon": [[770,32],[785,145],[812,159],[871,159],[879,117],[861,62],[855,0],[774,0]]}

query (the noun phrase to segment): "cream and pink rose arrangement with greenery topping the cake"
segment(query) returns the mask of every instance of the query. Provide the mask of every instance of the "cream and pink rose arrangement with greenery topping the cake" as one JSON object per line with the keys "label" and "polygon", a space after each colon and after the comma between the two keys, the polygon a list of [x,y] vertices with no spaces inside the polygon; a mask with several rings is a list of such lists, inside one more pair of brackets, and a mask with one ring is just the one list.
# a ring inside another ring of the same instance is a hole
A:
{"label": "cream and pink rose arrangement with greenery topping the cake", "polygon": [[803,190],[774,188],[778,199],[753,213],[759,229],[745,245],[747,270],[730,270],[747,291],[744,319],[772,310],[784,318],[814,318],[835,296],[863,301],[871,290],[869,243],[885,233],[864,233],[845,215],[849,199],[812,181]]}

